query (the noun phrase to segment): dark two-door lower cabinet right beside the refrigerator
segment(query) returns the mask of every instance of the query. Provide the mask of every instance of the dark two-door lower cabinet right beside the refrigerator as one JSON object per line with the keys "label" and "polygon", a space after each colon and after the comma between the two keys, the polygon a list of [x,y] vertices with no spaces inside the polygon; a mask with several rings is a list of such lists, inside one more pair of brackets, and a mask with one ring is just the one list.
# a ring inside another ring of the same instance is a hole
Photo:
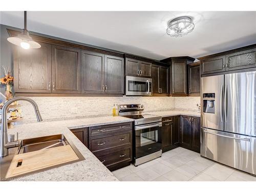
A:
{"label": "dark two-door lower cabinet right beside the refrigerator", "polygon": [[200,117],[181,116],[180,146],[200,153]]}

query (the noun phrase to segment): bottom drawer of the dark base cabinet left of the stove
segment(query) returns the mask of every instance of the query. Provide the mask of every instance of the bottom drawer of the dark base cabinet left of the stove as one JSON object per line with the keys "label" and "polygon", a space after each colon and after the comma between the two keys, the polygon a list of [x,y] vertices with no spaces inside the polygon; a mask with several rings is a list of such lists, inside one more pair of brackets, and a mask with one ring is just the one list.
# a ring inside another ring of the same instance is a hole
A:
{"label": "bottom drawer of the dark base cabinet left of the stove", "polygon": [[105,166],[113,165],[131,158],[131,148],[98,157]]}

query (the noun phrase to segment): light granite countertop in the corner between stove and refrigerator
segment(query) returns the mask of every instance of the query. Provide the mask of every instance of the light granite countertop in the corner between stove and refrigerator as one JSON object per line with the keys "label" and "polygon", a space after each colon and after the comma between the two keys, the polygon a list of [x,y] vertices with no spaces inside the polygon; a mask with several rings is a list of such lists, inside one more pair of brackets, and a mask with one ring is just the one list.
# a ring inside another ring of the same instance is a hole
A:
{"label": "light granite countertop in the corner between stove and refrigerator", "polygon": [[169,116],[176,116],[176,115],[188,115],[188,116],[196,116],[196,117],[201,116],[201,113],[198,113],[197,111],[178,111],[178,110],[148,112],[147,114],[159,115],[162,117],[169,117]]}

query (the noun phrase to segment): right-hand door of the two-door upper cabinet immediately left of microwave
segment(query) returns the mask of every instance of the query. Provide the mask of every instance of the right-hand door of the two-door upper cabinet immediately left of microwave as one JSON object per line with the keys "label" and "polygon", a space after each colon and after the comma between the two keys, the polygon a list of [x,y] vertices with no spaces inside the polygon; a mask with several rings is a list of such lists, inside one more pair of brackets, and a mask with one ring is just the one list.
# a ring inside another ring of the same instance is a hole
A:
{"label": "right-hand door of the two-door upper cabinet immediately left of microwave", "polygon": [[123,94],[124,74],[123,58],[105,55],[106,93]]}

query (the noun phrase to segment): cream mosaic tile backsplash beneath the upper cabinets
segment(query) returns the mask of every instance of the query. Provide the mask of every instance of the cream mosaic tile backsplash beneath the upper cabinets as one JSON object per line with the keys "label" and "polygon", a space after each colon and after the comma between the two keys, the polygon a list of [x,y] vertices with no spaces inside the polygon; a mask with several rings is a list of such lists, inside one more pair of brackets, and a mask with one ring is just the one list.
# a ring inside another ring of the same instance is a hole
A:
{"label": "cream mosaic tile backsplash beneath the upper cabinets", "polygon": [[[200,97],[32,97],[43,119],[111,115],[114,104],[144,104],[146,111],[197,110]],[[36,120],[32,105],[19,101],[24,120]]]}

